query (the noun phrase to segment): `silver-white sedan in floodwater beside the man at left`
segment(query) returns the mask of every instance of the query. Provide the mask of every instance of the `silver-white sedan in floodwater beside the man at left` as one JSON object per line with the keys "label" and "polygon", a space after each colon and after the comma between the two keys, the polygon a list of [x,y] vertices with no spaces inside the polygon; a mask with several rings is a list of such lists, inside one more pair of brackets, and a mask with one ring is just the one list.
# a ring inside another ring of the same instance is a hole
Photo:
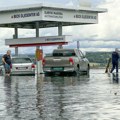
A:
{"label": "silver-white sedan in floodwater beside the man at left", "polygon": [[[3,70],[4,67],[0,67]],[[11,75],[34,75],[35,64],[27,56],[14,56],[12,57]]]}

